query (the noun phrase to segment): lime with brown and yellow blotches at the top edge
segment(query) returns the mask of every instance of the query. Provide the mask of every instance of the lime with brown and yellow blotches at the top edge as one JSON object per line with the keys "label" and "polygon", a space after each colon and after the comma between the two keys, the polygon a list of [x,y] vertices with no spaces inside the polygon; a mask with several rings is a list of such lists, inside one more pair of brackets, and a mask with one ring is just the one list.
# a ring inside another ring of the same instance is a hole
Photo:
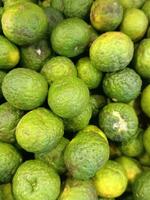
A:
{"label": "lime with brown and yellow blotches at the top edge", "polygon": [[113,31],[121,23],[123,7],[118,0],[96,0],[91,7],[93,27],[101,32]]}

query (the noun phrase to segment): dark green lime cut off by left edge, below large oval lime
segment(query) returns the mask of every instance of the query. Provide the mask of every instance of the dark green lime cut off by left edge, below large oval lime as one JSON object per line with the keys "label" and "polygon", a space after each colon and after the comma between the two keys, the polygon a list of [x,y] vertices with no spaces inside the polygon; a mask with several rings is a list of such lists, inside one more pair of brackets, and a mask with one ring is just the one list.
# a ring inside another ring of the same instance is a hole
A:
{"label": "dark green lime cut off by left edge, below large oval lime", "polygon": [[23,111],[14,108],[8,102],[0,105],[0,141],[13,143],[16,126],[23,116]]}

